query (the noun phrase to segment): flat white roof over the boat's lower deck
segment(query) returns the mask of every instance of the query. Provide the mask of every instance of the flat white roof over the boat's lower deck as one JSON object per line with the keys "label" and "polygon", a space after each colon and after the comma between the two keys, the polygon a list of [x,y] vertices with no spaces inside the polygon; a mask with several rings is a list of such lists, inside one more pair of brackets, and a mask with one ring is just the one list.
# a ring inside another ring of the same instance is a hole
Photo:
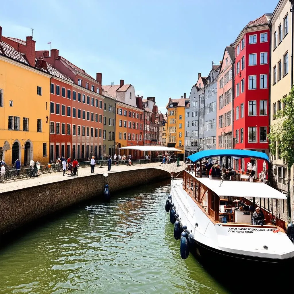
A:
{"label": "flat white roof over the boat's lower deck", "polygon": [[207,188],[216,193],[218,196],[244,197],[253,198],[274,198],[287,199],[280,191],[266,185],[265,183],[248,182],[248,181],[223,181],[210,180],[209,178],[196,178]]}

